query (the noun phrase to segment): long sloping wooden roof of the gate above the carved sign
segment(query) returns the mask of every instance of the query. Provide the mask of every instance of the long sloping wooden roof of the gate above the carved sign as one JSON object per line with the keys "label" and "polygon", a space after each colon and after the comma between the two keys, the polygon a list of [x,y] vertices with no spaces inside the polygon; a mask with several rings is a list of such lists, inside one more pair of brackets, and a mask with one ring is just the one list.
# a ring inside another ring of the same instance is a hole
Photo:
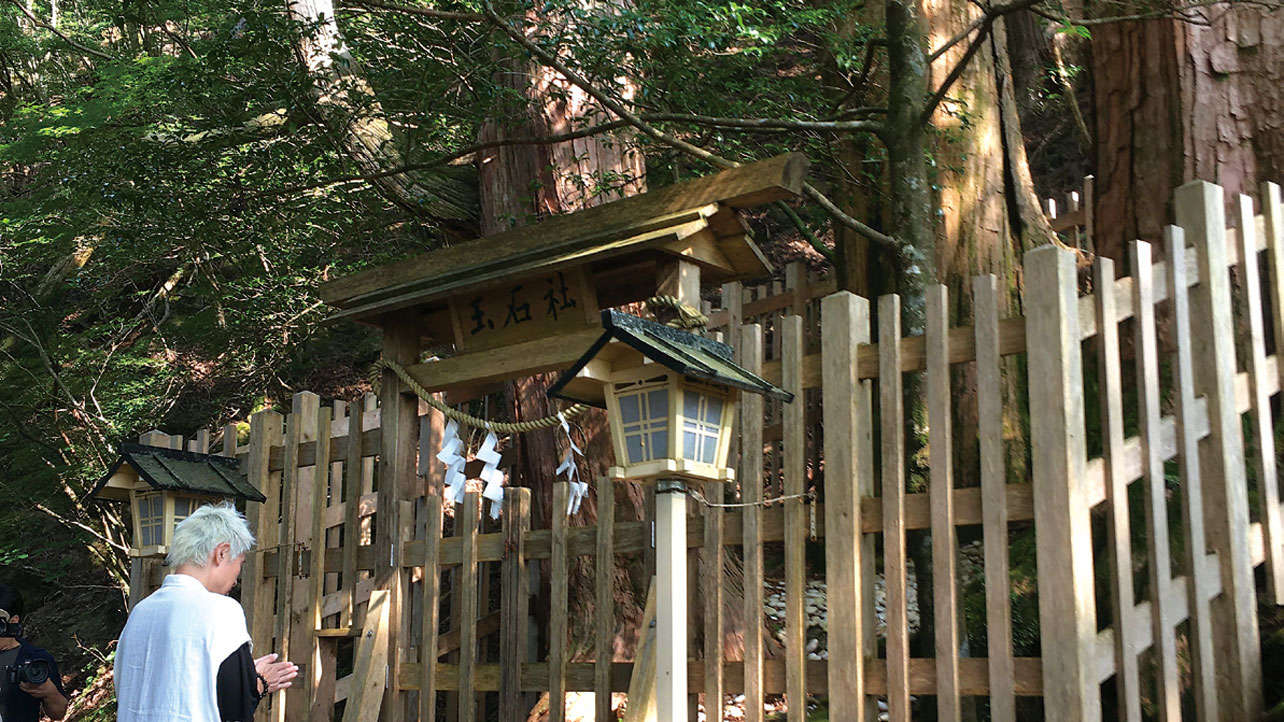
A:
{"label": "long sloping wooden roof of the gate above the carved sign", "polygon": [[[778,155],[335,279],[320,295],[335,317],[379,324],[389,311],[512,279],[580,266],[610,276],[656,254],[700,263],[713,283],[763,276],[770,265],[736,209],[797,195],[806,167],[801,154]],[[597,284],[619,288],[618,279]]]}

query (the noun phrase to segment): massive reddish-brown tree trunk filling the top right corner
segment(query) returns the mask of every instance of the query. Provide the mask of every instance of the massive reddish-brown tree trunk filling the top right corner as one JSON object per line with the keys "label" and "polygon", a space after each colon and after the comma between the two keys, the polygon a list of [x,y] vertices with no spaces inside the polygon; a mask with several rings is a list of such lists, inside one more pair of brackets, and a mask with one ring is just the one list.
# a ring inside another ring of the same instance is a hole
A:
{"label": "massive reddish-brown tree trunk filling the top right corner", "polygon": [[1093,30],[1097,107],[1095,240],[1124,261],[1158,242],[1171,198],[1190,180],[1226,202],[1284,171],[1284,14],[1219,6],[1210,27],[1171,19]]}

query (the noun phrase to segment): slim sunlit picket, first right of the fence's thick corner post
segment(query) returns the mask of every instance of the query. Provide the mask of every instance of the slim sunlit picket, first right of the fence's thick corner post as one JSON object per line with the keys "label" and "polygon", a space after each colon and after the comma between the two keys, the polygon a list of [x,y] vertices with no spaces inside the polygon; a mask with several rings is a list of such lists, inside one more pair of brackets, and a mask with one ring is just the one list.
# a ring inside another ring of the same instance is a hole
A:
{"label": "slim sunlit picket, first right of the fence's thick corner post", "polygon": [[[1132,534],[1129,525],[1129,478],[1124,470],[1124,380],[1120,369],[1120,331],[1116,320],[1115,261],[1098,257],[1093,288],[1097,303],[1098,378],[1102,402],[1102,460],[1106,474],[1106,511],[1109,525],[1111,619],[1115,627],[1116,690],[1121,718],[1140,722],[1141,694],[1138,671],[1136,623],[1132,619]],[[1153,445],[1152,445],[1153,451]]]}

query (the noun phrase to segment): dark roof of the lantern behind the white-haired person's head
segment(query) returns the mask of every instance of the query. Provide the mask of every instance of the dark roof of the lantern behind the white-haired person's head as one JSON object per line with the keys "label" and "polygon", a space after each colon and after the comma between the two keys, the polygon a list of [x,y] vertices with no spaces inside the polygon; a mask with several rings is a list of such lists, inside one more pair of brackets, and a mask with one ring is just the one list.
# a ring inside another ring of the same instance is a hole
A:
{"label": "dark roof of the lantern behind the white-haired person's head", "polygon": [[141,443],[122,443],[121,457],[98,482],[90,496],[100,497],[107,483],[128,464],[139,479],[158,491],[186,491],[245,501],[267,501],[253,484],[241,478],[235,459]]}

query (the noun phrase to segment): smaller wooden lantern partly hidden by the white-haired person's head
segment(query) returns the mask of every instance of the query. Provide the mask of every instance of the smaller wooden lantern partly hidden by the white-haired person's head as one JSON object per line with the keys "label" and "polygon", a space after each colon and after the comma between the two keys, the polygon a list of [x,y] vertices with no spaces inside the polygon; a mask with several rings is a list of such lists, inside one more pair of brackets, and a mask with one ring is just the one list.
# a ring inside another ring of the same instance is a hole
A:
{"label": "smaller wooden lantern partly hidden by the white-haired person's head", "polygon": [[164,556],[175,524],[205,504],[266,501],[241,478],[235,459],[139,443],[121,445],[119,453],[91,496],[130,502],[130,556]]}

